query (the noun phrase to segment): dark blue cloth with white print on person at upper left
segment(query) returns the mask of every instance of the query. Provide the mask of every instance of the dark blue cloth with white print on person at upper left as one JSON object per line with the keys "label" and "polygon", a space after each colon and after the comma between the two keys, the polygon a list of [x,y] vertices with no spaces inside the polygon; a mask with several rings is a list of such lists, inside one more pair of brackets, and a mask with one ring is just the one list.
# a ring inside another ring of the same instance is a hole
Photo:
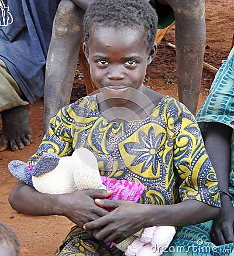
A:
{"label": "dark blue cloth with white print on person at upper left", "polygon": [[31,104],[44,94],[47,51],[60,1],[0,1],[0,59]]}

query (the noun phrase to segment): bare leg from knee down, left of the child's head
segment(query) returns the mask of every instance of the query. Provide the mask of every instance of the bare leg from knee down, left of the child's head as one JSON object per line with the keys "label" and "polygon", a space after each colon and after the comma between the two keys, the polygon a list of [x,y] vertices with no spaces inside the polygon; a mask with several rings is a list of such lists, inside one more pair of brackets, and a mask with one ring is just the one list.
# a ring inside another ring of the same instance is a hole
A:
{"label": "bare leg from knee down, left of the child's head", "polygon": [[62,0],[53,23],[46,61],[44,88],[44,132],[50,118],[69,104],[83,36],[84,11],[70,0]]}

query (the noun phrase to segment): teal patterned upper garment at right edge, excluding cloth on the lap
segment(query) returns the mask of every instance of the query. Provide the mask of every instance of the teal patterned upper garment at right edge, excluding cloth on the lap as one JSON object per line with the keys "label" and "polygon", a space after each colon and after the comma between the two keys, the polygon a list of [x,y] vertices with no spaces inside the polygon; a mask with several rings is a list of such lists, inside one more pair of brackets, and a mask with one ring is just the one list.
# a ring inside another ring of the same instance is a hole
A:
{"label": "teal patterned upper garment at right edge, excluding cloth on the lap", "polygon": [[232,162],[229,178],[229,193],[234,196],[234,47],[216,73],[210,93],[197,114],[197,122],[205,135],[208,122],[221,122],[233,129]]}

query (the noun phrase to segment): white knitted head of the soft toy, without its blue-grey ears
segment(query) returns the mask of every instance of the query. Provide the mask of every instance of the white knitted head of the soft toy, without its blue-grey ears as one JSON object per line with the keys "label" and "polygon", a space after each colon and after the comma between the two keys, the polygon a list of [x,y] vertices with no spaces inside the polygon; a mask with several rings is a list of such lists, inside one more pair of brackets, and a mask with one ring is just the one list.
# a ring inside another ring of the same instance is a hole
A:
{"label": "white knitted head of the soft toy, without its blue-grey ears", "polygon": [[106,189],[102,185],[97,159],[86,148],[78,148],[73,155],[60,158],[56,168],[43,175],[32,176],[32,181],[37,191],[49,194],[71,193],[78,189]]}

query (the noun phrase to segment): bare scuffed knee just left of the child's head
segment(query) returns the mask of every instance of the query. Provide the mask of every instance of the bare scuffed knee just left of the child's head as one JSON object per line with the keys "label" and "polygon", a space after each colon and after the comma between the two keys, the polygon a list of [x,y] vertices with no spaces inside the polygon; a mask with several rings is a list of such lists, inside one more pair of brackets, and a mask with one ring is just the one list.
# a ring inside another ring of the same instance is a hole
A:
{"label": "bare scuffed knee just left of the child's head", "polygon": [[53,23],[53,36],[75,36],[82,32],[84,11],[71,0],[62,0]]}

